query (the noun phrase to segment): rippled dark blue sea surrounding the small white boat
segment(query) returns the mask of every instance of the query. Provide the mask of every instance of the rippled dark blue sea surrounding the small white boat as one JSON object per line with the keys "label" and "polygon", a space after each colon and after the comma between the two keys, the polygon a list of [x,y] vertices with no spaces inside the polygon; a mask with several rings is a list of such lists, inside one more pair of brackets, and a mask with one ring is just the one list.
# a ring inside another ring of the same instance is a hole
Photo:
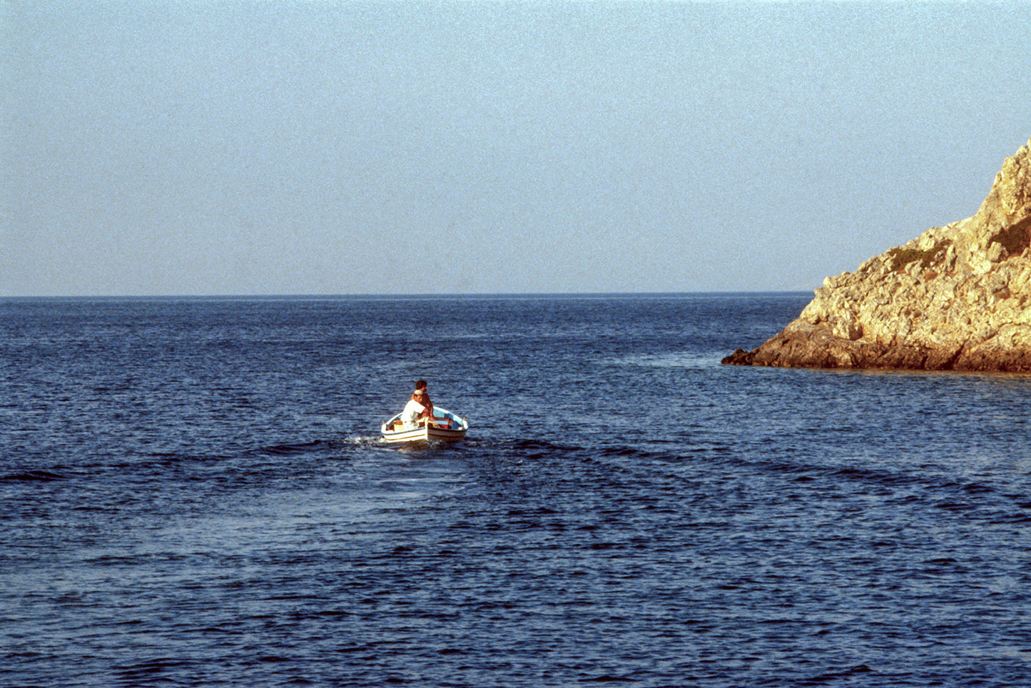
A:
{"label": "rippled dark blue sea surrounding the small white boat", "polygon": [[0,301],[0,685],[1029,685],[1031,378],[808,298]]}

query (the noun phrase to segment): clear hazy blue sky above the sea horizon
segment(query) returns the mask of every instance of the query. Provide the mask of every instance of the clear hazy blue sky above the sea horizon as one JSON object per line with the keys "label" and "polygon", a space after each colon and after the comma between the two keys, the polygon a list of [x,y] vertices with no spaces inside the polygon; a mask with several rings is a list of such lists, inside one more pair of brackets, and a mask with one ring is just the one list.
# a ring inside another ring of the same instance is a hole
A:
{"label": "clear hazy blue sky above the sea horizon", "polygon": [[0,296],[794,291],[972,216],[1031,4],[0,3]]}

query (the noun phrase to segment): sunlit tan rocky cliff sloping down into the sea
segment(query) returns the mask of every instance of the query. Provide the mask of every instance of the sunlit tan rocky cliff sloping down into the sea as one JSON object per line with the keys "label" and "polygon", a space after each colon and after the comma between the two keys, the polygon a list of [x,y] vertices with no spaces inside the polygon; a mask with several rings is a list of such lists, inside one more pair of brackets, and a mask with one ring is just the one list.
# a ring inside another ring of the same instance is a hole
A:
{"label": "sunlit tan rocky cliff sloping down into the sea", "polygon": [[1031,371],[1031,140],[972,218],[827,277],[779,334],[724,363]]}

